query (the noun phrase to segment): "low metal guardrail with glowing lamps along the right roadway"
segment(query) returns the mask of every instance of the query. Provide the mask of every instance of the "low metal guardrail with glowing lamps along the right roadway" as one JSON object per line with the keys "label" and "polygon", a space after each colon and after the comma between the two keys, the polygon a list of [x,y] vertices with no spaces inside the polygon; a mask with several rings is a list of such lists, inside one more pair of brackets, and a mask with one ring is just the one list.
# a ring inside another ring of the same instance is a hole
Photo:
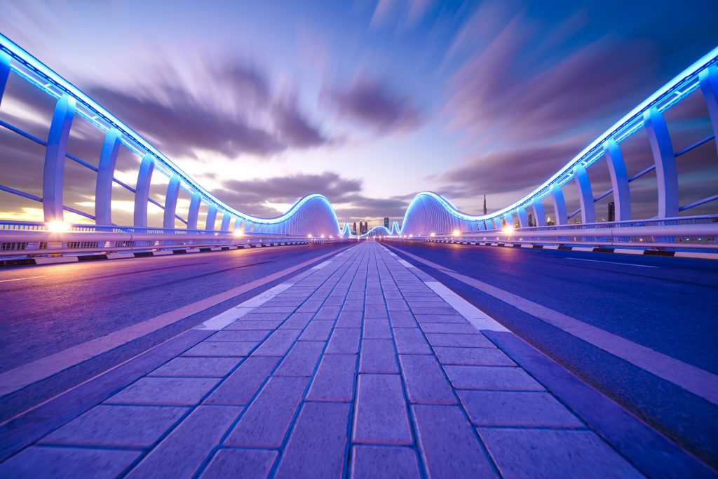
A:
{"label": "low metal guardrail with glowing lamps along the right roadway", "polygon": [[718,250],[718,215],[503,230],[384,236],[400,241],[476,241]]}

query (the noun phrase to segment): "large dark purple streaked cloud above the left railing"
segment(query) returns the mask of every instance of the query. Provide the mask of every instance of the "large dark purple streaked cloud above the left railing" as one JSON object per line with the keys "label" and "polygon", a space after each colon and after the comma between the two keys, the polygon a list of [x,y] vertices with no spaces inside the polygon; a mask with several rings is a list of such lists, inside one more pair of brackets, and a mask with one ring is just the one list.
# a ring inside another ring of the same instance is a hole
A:
{"label": "large dark purple streaked cloud above the left railing", "polygon": [[169,65],[154,65],[149,86],[91,86],[88,93],[124,123],[170,155],[218,152],[226,157],[270,157],[330,142],[298,102],[275,98],[269,80],[252,65],[218,67],[203,59],[207,77],[182,80]]}

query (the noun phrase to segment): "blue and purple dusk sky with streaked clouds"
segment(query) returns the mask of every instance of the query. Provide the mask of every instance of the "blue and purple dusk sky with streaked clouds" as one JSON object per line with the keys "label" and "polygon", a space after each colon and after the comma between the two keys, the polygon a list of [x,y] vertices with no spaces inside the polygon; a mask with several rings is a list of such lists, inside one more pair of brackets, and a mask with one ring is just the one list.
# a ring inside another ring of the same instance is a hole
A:
{"label": "blue and purple dusk sky with streaked clouds", "polygon": [[[518,200],[716,47],[717,17],[714,0],[6,0],[0,31],[239,210],[318,192],[342,222],[376,225],[422,190],[474,214],[484,193],[490,211]],[[710,131],[694,97],[666,115],[676,149]],[[42,138],[52,108],[11,77],[0,118]],[[0,131],[0,184],[39,194],[43,152],[15,136]],[[71,153],[96,165],[101,142],[75,120]],[[625,154],[629,175],[651,163],[640,135]],[[714,194],[715,156],[686,155],[681,203]],[[121,153],[116,177],[134,186],[138,164]],[[589,174],[596,194],[610,185]],[[93,213],[93,175],[66,164],[67,205]],[[655,203],[651,181],[632,184],[635,210]],[[128,224],[131,207],[115,190]],[[0,192],[0,218],[39,212]]]}

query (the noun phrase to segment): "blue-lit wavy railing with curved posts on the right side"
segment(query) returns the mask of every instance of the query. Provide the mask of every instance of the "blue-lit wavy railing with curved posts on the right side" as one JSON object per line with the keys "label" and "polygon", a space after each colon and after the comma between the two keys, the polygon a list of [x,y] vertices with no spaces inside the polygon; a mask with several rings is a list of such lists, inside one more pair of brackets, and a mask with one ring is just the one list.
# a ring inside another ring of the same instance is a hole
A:
{"label": "blue-lit wavy railing with curved posts on the right side", "polygon": [[[546,212],[542,203],[546,197],[549,197],[553,203],[556,228],[571,228],[569,220],[579,213],[582,223],[596,223],[595,203],[611,194],[615,203],[615,222],[610,223],[620,224],[631,219],[630,183],[654,170],[657,180],[657,218],[682,220],[679,213],[718,200],[718,194],[714,194],[686,205],[679,205],[679,179],[676,170],[677,158],[709,141],[715,143],[718,136],[717,63],[718,48],[695,62],[617,121],[543,185],[506,208],[488,215],[469,215],[434,192],[420,192],[409,204],[401,228],[392,228],[391,231],[383,227],[384,231],[373,228],[367,234],[369,236],[382,236],[385,233],[389,236],[441,236],[472,231],[496,231],[501,230],[505,225],[513,229],[515,224],[521,228],[521,231],[532,226],[546,227]],[[676,152],[663,112],[698,89],[701,90],[704,98],[713,133]],[[648,136],[653,164],[637,175],[628,177],[620,145],[640,129],[645,129]],[[607,164],[612,187],[600,195],[594,195],[587,169],[601,159],[605,159]],[[580,208],[569,213],[561,188],[572,181],[577,191]],[[681,187],[690,188],[690,185],[681,185]],[[533,220],[530,221],[529,218]],[[704,218],[715,221],[713,217]]]}

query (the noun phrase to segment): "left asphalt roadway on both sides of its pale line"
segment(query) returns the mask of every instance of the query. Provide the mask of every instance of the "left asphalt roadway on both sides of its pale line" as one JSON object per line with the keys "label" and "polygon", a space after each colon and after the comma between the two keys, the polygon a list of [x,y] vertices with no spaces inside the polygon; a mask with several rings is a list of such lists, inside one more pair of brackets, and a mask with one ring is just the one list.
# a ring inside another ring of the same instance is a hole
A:
{"label": "left asphalt roadway on both sides of its pale line", "polygon": [[[65,354],[73,346],[84,348],[90,340],[346,247],[311,244],[1,269],[0,374],[54,353]],[[5,396],[0,422],[279,282],[266,282],[196,314],[180,315],[172,324],[125,338],[118,348],[91,361],[77,361],[77,366]]]}

